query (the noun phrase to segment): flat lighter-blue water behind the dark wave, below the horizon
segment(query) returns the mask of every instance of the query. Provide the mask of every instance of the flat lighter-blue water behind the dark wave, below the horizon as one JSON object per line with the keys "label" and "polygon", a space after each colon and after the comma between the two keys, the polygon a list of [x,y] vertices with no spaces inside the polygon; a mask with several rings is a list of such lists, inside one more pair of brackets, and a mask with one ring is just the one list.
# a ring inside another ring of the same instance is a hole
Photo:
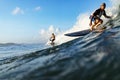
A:
{"label": "flat lighter-blue water behind the dark wave, below the horizon", "polygon": [[16,43],[0,44],[0,60],[3,58],[35,52],[37,50],[41,50],[47,47],[48,46],[40,43],[39,44],[16,44]]}

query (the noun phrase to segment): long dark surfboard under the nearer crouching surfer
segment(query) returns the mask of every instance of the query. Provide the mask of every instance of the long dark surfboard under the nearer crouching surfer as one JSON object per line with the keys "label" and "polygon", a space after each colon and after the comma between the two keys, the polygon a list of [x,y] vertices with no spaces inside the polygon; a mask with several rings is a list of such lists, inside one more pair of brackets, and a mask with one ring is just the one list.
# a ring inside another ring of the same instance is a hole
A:
{"label": "long dark surfboard under the nearer crouching surfer", "polygon": [[89,34],[90,32],[96,32],[96,33],[101,33],[103,32],[105,29],[96,29],[91,31],[90,29],[86,29],[83,31],[77,31],[77,32],[72,32],[72,33],[67,33],[64,34],[65,36],[69,36],[69,37],[79,37],[79,36],[85,36],[87,34]]}

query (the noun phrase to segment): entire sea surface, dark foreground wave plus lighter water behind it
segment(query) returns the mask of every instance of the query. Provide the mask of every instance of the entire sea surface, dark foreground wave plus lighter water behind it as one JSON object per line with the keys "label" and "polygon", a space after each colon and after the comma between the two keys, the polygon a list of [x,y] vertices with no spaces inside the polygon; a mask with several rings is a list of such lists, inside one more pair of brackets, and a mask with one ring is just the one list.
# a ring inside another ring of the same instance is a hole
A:
{"label": "entire sea surface, dark foreground wave plus lighter water behind it", "polygon": [[105,26],[50,48],[0,44],[0,80],[120,80],[120,12]]}

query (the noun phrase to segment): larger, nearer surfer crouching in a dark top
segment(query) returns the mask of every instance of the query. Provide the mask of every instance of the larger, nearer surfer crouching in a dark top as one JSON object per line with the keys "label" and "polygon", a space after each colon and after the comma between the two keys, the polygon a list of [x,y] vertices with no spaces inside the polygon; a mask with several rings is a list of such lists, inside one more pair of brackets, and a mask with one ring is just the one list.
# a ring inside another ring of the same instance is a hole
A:
{"label": "larger, nearer surfer crouching in a dark top", "polygon": [[[91,31],[95,28],[97,28],[99,25],[103,23],[103,20],[101,19],[101,16],[103,15],[105,18],[111,18],[110,16],[106,15],[105,12],[106,4],[102,3],[99,9],[97,9],[91,16],[90,16],[90,26]],[[92,24],[94,22],[94,24]]]}

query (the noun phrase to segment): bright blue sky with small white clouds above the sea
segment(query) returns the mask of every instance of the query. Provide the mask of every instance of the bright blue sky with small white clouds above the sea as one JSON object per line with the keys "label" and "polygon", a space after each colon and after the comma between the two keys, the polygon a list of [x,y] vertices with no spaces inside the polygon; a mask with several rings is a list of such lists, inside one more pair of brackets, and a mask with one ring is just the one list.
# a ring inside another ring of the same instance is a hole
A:
{"label": "bright blue sky with small white clouds above the sea", "polygon": [[81,13],[109,0],[0,0],[0,43],[39,42],[41,29],[70,29]]}

